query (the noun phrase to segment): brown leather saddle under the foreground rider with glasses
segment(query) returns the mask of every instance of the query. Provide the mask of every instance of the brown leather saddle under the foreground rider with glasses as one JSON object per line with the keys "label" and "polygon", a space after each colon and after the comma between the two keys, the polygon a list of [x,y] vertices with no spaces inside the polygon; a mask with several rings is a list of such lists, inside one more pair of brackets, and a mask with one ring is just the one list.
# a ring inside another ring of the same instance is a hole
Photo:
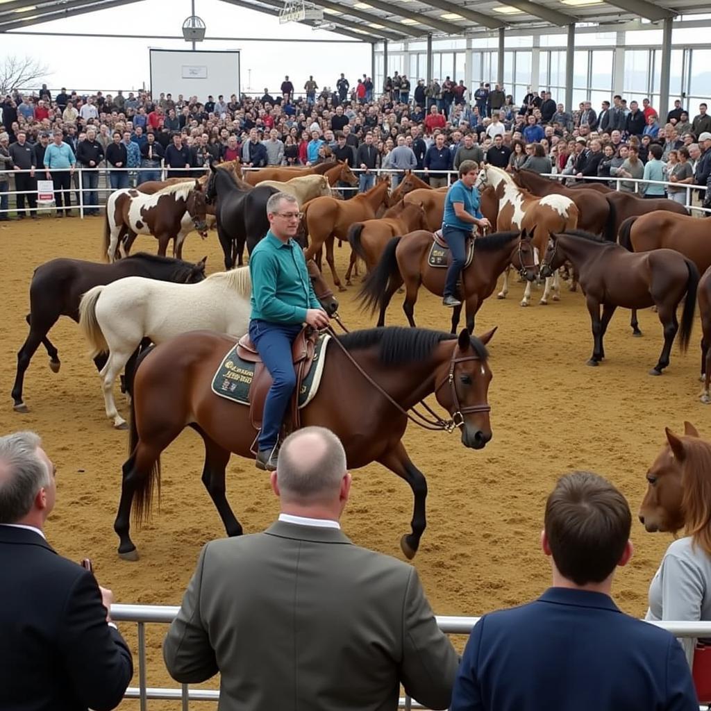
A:
{"label": "brown leather saddle under the foreground rider with glasses", "polygon": [[[319,331],[311,326],[304,326],[301,333],[294,339],[292,343],[292,363],[294,363],[294,372],[296,373],[296,387],[292,402],[289,405],[291,412],[291,427],[287,430],[292,431],[299,429],[301,426],[299,421],[299,391],[301,383],[309,374],[311,365],[314,364],[314,354],[316,353],[316,342],[319,340]],[[262,358],[257,353],[255,344],[252,343],[249,333],[245,333],[237,343],[237,355],[242,360],[247,360],[249,363],[255,363],[255,375],[252,378],[250,385],[250,421],[255,429],[262,429],[262,416],[264,415],[264,400],[267,400],[267,392],[272,387],[272,375],[269,370],[264,368]],[[287,423],[284,423],[285,425]]]}

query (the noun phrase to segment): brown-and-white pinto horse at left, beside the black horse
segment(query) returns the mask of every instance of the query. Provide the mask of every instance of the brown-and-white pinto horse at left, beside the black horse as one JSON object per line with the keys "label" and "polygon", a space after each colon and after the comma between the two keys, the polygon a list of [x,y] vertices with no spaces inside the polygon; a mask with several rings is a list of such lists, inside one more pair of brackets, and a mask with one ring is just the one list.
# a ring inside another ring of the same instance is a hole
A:
{"label": "brown-and-white pinto horse at left, beside the black horse", "polygon": [[153,195],[134,188],[114,191],[106,203],[104,252],[113,262],[117,247],[125,257],[137,235],[153,235],[161,257],[173,240],[173,257],[181,259],[183,240],[191,230],[197,230],[203,239],[207,237],[206,208],[205,195],[196,180],[169,185]]}

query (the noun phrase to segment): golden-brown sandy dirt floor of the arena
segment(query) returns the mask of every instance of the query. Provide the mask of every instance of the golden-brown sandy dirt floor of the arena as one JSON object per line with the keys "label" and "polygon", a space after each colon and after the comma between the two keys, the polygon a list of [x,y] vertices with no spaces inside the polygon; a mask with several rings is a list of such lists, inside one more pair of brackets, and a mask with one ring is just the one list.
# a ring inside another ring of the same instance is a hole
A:
{"label": "golden-brown sandy dirt floor of the arena", "polygon": [[[50,332],[60,351],[60,373],[51,373],[46,353],[38,351],[26,378],[31,412],[18,415],[11,407],[33,269],[53,257],[100,260],[101,231],[99,218],[43,218],[0,228],[0,431],[36,430],[58,466],[58,504],[47,533],[61,554],[74,560],[92,557],[98,579],[114,590],[117,602],[179,604],[201,545],[224,535],[200,481],[198,436],[186,430],[164,453],[161,508],[149,525],[134,528],[141,558],[129,563],[117,557],[112,529],[127,434],[114,431],[105,418],[100,381],[73,321],[61,319]],[[141,249],[154,252],[155,240],[139,237],[134,251]],[[207,242],[188,237],[186,259],[205,254],[208,271],[220,269],[215,233]],[[336,255],[343,277],[348,250],[343,247]],[[457,435],[412,425],[405,436],[429,483],[428,528],[414,565],[438,614],[481,614],[525,602],[545,589],[550,571],[539,547],[542,507],[560,474],[592,469],[609,477],[636,513],[664,426],[680,430],[689,419],[702,434],[711,434],[711,408],[697,400],[698,321],[690,352],[680,355],[675,347],[665,375],[652,378],[647,373],[661,349],[656,314],[640,314],[644,337],[633,338],[629,312],[618,311],[606,338],[606,362],[589,368],[592,337],[582,296],[564,292],[560,303],[549,306],[539,306],[534,298],[535,305],[523,309],[518,305],[522,290],[523,284],[514,283],[506,301],[489,299],[477,321],[479,333],[498,326],[490,344],[493,439],[486,449],[467,450]],[[350,328],[373,325],[374,319],[358,311],[355,292],[338,295],[343,319]],[[395,297],[389,324],[405,323],[401,300]],[[415,317],[419,326],[449,330],[449,311],[424,291]],[[124,397],[117,395],[117,402],[127,416]],[[346,533],[360,545],[402,557],[398,542],[410,530],[412,513],[407,484],[377,464],[355,471],[354,480],[343,518]],[[228,498],[246,532],[262,530],[277,515],[267,476],[246,459],[230,461]],[[619,572],[614,592],[624,611],[641,616],[648,583],[670,539],[647,534],[638,523],[632,538],[634,559]],[[133,626],[123,628],[135,646]],[[163,634],[160,627],[149,633],[153,686],[171,684],[160,653]],[[152,702],[150,707],[178,705]]]}

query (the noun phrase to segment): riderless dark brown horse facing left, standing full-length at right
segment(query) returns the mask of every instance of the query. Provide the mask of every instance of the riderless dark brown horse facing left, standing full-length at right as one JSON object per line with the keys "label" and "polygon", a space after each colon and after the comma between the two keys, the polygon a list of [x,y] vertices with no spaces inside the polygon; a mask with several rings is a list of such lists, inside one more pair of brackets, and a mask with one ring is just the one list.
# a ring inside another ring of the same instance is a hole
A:
{"label": "riderless dark brown horse facing left, standing full-length at right", "polygon": [[579,231],[550,235],[541,274],[550,276],[565,260],[572,262],[579,274],[592,322],[594,347],[587,365],[599,365],[604,359],[605,331],[618,306],[623,309],[656,306],[664,329],[664,346],[649,374],[661,375],[669,365],[671,346],[679,331],[676,309],[684,296],[679,336],[681,351],[686,351],[694,325],[699,284],[694,262],[674,250],[628,252],[615,242]]}

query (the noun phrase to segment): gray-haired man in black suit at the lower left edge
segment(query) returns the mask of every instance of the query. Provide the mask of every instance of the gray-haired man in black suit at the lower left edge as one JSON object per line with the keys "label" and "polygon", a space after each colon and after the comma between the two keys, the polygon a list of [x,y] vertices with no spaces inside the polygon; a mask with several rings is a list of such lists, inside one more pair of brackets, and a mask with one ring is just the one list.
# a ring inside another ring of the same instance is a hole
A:
{"label": "gray-haired man in black suit at the lower left edge", "polygon": [[133,675],[112,592],[43,533],[55,467],[33,432],[0,437],[0,707],[107,711]]}

